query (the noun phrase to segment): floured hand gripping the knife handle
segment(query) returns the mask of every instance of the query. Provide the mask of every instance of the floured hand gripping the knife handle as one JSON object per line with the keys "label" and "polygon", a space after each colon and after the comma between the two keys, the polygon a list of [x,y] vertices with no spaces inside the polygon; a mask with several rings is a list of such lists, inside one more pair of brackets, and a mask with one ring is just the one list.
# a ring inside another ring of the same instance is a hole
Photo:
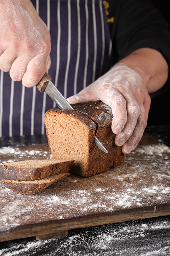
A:
{"label": "floured hand gripping the knife handle", "polygon": [[0,70],[26,87],[49,70],[50,34],[29,0],[0,0]]}

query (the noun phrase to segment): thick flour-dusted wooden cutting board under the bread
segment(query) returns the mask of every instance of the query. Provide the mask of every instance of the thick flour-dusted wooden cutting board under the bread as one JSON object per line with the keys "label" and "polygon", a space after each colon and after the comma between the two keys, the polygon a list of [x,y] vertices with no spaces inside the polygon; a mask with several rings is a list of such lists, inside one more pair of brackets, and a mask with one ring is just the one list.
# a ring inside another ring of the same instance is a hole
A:
{"label": "thick flour-dusted wooden cutting board under the bread", "polygon": [[[51,158],[46,144],[0,148],[0,163]],[[0,241],[66,236],[75,228],[170,215],[170,148],[144,134],[123,164],[70,175],[35,195],[0,184]]]}

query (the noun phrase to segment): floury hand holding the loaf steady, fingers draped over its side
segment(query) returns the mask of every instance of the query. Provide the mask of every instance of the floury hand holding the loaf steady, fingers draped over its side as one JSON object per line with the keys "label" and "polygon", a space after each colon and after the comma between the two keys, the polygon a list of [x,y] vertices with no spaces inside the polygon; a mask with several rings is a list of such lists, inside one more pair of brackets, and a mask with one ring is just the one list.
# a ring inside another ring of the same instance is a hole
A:
{"label": "floury hand holding the loaf steady, fingers draped over its side", "polygon": [[115,144],[123,146],[123,153],[130,153],[141,140],[150,108],[150,96],[143,79],[136,71],[119,63],[84,90],[68,98],[71,104],[95,100],[111,107]]}

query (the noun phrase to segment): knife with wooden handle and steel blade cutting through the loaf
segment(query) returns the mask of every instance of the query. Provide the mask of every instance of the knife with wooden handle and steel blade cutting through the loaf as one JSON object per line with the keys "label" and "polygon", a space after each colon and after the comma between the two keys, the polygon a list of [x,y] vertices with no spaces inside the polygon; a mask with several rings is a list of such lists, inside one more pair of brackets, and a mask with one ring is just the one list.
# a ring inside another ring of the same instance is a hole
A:
{"label": "knife with wooden handle and steel blade cutting through the loaf", "polygon": [[[72,109],[74,108],[68,103],[64,96],[59,92],[55,85],[51,82],[51,76],[45,73],[40,82],[37,84],[37,88],[40,92],[46,92],[49,97],[57,104],[60,109]],[[108,150],[103,146],[103,144],[95,136],[95,145],[103,150],[105,153],[108,153]]]}

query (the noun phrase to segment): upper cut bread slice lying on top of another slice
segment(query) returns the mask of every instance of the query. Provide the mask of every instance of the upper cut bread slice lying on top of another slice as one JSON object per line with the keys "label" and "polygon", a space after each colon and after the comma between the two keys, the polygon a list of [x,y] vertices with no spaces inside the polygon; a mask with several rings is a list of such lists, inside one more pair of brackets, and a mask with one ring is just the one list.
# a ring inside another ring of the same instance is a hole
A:
{"label": "upper cut bread slice lying on top of another slice", "polygon": [[38,180],[68,173],[73,159],[33,159],[0,164],[0,180]]}

